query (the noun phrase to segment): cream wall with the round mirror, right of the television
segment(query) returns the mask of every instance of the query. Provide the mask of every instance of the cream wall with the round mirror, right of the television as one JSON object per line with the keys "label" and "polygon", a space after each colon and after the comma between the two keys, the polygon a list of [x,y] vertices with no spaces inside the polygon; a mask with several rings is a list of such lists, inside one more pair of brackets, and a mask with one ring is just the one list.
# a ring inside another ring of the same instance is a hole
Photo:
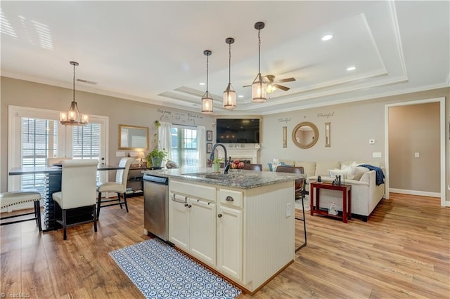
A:
{"label": "cream wall with the round mirror, right of the television", "polygon": [[[357,159],[379,161],[384,165],[386,154],[385,105],[439,97],[446,98],[446,185],[449,185],[450,141],[448,122],[450,115],[450,88],[264,116],[261,162],[265,168],[267,168],[267,163],[271,162],[275,157],[297,161]],[[432,119],[428,120],[434,121]],[[292,140],[293,128],[302,121],[311,121],[319,128],[319,140],[316,145],[304,150],[296,147]],[[325,123],[328,121],[331,123],[331,147],[325,147]],[[288,126],[288,147],[286,148],[283,148],[283,126]],[[370,145],[370,139],[375,139],[375,144]],[[373,152],[381,152],[381,158],[373,158]],[[420,172],[423,171],[423,168],[420,168],[420,164],[414,164],[407,167],[399,167],[397,171],[399,173],[404,171]],[[439,178],[439,173],[437,173],[437,177],[432,178],[428,176],[425,178],[423,184],[433,186],[432,192],[440,192],[439,187],[435,187],[439,183],[437,178]],[[413,187],[413,190],[417,190],[416,187]],[[430,190],[425,188],[425,190],[419,191]],[[447,200],[450,198],[449,194],[450,192],[447,191]]]}

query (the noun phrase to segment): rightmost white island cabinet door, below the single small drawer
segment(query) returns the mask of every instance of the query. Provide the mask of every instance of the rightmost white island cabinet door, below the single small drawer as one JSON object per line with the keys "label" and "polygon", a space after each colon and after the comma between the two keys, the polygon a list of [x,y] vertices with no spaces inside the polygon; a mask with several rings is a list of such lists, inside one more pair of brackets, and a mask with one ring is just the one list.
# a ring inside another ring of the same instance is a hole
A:
{"label": "rightmost white island cabinet door, below the single small drawer", "polygon": [[243,268],[243,212],[217,208],[217,269],[239,281]]}

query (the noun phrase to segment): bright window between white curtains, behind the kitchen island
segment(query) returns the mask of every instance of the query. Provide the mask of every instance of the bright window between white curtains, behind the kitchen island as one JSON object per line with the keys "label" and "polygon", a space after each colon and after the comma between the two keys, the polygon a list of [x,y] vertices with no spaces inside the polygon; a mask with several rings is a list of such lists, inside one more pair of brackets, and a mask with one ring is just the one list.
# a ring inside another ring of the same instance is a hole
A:
{"label": "bright window between white curtains, behind the kitchen island", "polygon": [[180,167],[198,166],[197,129],[172,125],[171,157]]}

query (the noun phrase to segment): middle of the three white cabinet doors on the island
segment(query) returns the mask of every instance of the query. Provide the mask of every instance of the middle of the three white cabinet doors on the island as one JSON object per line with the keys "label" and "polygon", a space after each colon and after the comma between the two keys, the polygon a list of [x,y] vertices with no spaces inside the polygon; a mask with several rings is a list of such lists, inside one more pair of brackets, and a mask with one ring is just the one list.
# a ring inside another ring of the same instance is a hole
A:
{"label": "middle of the three white cabinet doors on the island", "polygon": [[216,204],[188,198],[191,254],[209,265],[216,265]]}

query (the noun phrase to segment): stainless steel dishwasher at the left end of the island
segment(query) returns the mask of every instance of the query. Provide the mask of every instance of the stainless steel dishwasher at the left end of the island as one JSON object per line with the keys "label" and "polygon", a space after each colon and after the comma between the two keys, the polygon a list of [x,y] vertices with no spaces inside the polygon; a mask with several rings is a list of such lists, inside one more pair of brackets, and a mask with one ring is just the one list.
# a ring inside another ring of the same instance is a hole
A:
{"label": "stainless steel dishwasher at the left end of the island", "polygon": [[169,237],[169,179],[143,175],[143,225],[156,237]]}

